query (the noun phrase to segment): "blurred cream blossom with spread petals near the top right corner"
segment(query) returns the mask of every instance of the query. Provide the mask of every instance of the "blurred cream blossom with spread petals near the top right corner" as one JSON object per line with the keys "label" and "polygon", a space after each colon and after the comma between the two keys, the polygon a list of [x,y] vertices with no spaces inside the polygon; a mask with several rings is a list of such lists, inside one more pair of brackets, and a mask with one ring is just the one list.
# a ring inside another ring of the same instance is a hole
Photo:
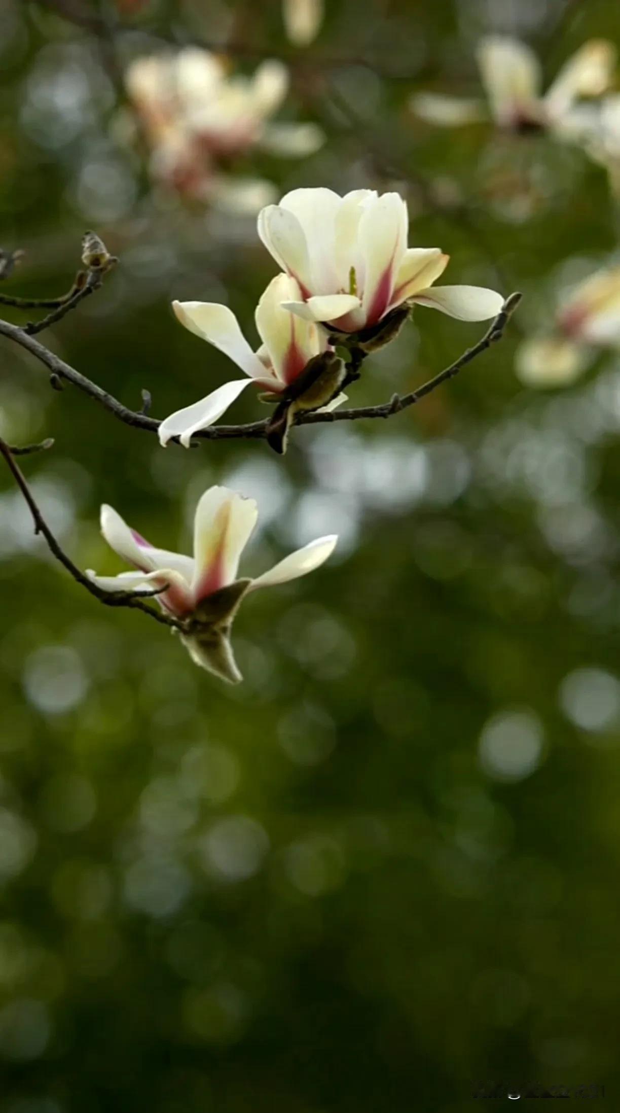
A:
{"label": "blurred cream blossom with spread petals near the top right corner", "polygon": [[609,88],[616,47],[591,39],[564,62],[548,91],[542,93],[540,62],[524,42],[508,36],[482,39],[476,51],[488,104],[442,93],[421,92],[411,107],[431,124],[452,126],[489,119],[510,131],[552,128],[560,131],[580,97],[598,97]]}

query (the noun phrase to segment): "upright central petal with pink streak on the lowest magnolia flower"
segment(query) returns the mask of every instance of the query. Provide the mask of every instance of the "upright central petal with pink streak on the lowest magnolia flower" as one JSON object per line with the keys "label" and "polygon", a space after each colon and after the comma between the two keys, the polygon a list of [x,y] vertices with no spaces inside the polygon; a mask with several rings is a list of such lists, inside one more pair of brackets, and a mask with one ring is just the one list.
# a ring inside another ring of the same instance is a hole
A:
{"label": "upright central petal with pink streak on the lowest magnolia flower", "polygon": [[257,518],[254,499],[244,499],[228,487],[205,491],[194,519],[195,603],[236,579]]}

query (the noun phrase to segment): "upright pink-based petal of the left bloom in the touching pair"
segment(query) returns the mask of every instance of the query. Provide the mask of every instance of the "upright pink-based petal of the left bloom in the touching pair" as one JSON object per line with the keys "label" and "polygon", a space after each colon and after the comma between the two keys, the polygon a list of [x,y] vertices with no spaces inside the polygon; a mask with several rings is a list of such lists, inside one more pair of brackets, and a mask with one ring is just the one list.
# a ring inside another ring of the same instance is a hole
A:
{"label": "upright pink-based petal of the left bloom in the touching pair", "polygon": [[[327,344],[311,321],[294,317],[284,307],[288,298],[299,298],[299,284],[291,275],[276,275],[256,307],[256,327],[281,383],[292,383],[313,356]],[[304,303],[302,303],[304,304]]]}

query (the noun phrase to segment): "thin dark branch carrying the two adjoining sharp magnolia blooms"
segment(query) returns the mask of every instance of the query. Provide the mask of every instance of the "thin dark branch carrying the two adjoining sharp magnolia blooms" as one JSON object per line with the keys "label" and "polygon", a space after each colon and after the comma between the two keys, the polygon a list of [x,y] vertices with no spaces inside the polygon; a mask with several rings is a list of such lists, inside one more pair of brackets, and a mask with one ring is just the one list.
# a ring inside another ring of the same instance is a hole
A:
{"label": "thin dark branch carrying the two adjoining sharp magnolia blooms", "polygon": [[[449,378],[453,378],[462,367],[465,367],[472,359],[485,352],[492,344],[500,341],[504,334],[505,327],[514,313],[519,302],[521,301],[521,294],[511,294],[510,297],[504,302],[502,309],[493,321],[491,327],[484,334],[484,336],[474,344],[473,347],[468,348],[454,363],[450,364],[441,371],[434,378],[431,378],[427,383],[419,386],[416,391],[411,394],[405,394],[402,397],[394,395],[394,397],[377,406],[363,406],[358,410],[335,410],[331,413],[325,413],[321,411],[305,412],[297,415],[295,424],[297,425],[308,425],[318,424],[321,422],[333,422],[333,421],[357,421],[362,417],[390,417],[394,413],[398,413],[401,410],[405,410],[407,406],[414,405],[420,402],[421,398],[431,394],[432,391],[441,386]],[[159,427],[159,422],[155,417],[149,417],[148,414],[140,411],[129,410],[127,406],[122,405],[118,398],[104,391],[97,383],[92,383],[86,375],[82,375],[75,367],[71,367],[68,363],[65,363],[58,355],[50,352],[49,348],[45,347],[39,341],[35,339],[33,336],[29,335],[23,328],[19,328],[17,325],[11,325],[7,321],[0,321],[0,335],[7,336],[9,339],[14,341],[20,347],[26,348],[37,359],[49,368],[52,376],[58,381],[66,380],[68,383],[72,383],[78,390],[88,394],[91,398],[95,398],[100,405],[115,415],[119,421],[124,422],[126,425],[130,425],[134,429],[144,429],[149,433],[156,433]],[[150,397],[150,396],[149,396]],[[268,426],[268,420],[253,422],[247,425],[210,425],[208,429],[201,430],[199,433],[195,434],[196,440],[207,440],[207,441],[218,441],[218,440],[230,440],[237,437],[260,440],[266,436]]]}

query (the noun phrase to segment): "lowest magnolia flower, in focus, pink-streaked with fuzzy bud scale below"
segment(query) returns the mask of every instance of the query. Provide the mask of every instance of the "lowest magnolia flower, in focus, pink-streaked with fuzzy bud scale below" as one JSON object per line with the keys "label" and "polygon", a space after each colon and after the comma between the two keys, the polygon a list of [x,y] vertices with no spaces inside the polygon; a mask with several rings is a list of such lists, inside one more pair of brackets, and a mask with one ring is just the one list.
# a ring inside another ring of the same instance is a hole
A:
{"label": "lowest magnolia flower, in focus, pink-streaked with fuzzy bud scale below", "polygon": [[155,549],[111,506],[101,506],[101,533],[111,549],[138,571],[87,574],[104,591],[161,588],[157,600],[181,623],[180,639],[196,664],[223,680],[242,676],[230,647],[230,627],[244,595],[313,572],[334,551],[337,536],[318,538],[285,556],[255,580],[239,579],[239,558],[256,525],[258,510],[228,487],[205,491],[194,518],[194,556]]}

